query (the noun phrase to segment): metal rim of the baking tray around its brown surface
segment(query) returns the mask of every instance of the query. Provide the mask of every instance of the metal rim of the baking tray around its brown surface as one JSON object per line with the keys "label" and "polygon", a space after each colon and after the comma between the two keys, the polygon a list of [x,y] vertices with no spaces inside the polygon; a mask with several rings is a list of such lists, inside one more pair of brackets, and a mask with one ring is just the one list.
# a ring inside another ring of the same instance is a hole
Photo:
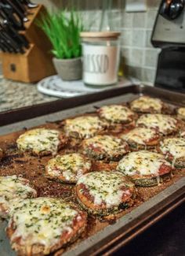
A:
{"label": "metal rim of the baking tray around its brown surface", "polygon": [[[132,85],[0,113],[0,125],[2,125],[0,135],[20,131],[24,127],[31,128],[45,122],[53,122],[81,113],[93,112],[95,106],[129,102],[140,95],[158,97],[176,106],[185,105],[185,95],[183,94],[157,87]],[[82,240],[82,242],[79,241],[63,255],[112,254],[184,202],[184,195],[185,177],[182,177],[158,195],[119,218],[116,223],[108,225],[96,232],[95,235]],[[5,238],[4,228],[5,221],[0,223],[0,255],[13,256],[15,253],[10,249],[8,239]]]}

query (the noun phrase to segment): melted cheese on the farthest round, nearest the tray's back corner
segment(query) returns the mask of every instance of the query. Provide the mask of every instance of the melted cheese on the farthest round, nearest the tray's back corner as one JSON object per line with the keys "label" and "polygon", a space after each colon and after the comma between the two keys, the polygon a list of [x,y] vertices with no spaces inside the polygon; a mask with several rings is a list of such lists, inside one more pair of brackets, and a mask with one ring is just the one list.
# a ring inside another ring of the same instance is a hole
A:
{"label": "melted cheese on the farthest round, nearest the tray's back corner", "polygon": [[155,112],[161,113],[162,102],[159,98],[142,96],[131,103],[131,108],[138,109],[140,112],[146,112],[148,109],[154,109]]}

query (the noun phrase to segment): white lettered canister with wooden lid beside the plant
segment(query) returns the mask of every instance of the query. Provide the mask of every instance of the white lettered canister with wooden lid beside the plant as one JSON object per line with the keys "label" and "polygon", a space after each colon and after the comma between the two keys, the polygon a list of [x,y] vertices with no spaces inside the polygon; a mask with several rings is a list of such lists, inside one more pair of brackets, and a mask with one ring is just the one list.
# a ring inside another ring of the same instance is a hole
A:
{"label": "white lettered canister with wooden lid beside the plant", "polygon": [[82,32],[83,81],[106,86],[118,82],[119,32]]}

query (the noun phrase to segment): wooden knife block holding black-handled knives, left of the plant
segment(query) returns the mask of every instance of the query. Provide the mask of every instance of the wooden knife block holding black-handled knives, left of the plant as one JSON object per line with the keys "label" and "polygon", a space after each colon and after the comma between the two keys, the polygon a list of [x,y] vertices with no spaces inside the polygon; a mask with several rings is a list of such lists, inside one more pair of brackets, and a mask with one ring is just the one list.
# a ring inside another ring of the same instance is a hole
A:
{"label": "wooden knife block holding black-handled knives, left of the plant", "polygon": [[2,53],[2,72],[7,79],[25,83],[34,83],[46,76],[56,74],[53,66],[51,44],[44,32],[35,24],[45,8],[39,5],[31,9],[29,21],[25,23],[25,31],[20,32],[30,42],[30,48],[25,54]]}

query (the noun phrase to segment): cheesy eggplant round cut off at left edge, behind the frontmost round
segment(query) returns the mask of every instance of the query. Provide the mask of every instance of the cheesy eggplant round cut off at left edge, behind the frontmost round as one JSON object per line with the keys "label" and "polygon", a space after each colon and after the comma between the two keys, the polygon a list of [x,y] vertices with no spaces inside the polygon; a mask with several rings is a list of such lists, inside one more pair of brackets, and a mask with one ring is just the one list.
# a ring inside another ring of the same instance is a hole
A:
{"label": "cheesy eggplant round cut off at left edge, behind the frontmost round", "polygon": [[37,191],[30,181],[20,176],[0,176],[0,217],[9,217],[9,210],[21,198],[34,198]]}

